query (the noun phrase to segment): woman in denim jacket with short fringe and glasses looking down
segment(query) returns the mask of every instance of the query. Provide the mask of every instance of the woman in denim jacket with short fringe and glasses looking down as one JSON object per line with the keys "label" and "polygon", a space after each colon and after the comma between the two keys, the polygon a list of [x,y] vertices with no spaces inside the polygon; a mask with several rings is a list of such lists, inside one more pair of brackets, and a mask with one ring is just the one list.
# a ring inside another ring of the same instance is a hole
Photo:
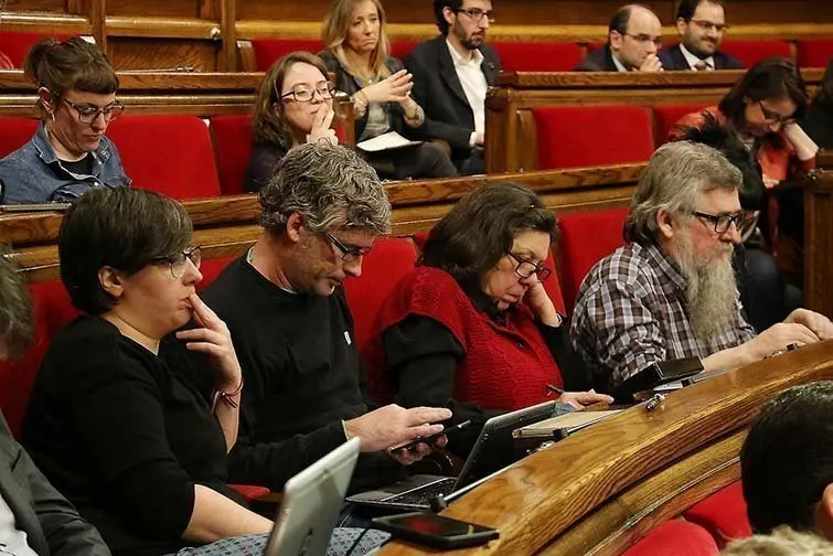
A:
{"label": "woman in denim jacket with short fringe and glasses looking down", "polygon": [[41,124],[31,141],[0,160],[0,202],[67,202],[93,188],[125,188],[116,146],[105,137],[124,106],[118,77],[95,44],[46,39],[26,56]]}

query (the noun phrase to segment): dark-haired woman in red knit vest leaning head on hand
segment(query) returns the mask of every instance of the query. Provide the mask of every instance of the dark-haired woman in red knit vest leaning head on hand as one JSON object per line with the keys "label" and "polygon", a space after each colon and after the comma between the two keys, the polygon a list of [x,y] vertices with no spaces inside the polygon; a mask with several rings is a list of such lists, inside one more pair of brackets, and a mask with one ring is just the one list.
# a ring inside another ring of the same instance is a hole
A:
{"label": "dark-haired woman in red knit vest leaning head on hand", "polygon": [[487,419],[559,398],[558,411],[611,402],[584,383],[569,327],[544,289],[555,215],[528,189],[485,185],[430,232],[420,264],[377,317],[371,384],[404,407],[448,407],[448,449],[464,458]]}

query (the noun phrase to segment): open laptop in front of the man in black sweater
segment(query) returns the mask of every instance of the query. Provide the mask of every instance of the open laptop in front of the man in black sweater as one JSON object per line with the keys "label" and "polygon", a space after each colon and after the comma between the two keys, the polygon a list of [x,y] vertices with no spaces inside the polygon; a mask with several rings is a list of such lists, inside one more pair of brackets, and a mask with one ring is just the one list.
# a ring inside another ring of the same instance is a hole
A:
{"label": "open laptop in front of the man in black sweater", "polygon": [[553,415],[555,400],[492,417],[480,431],[458,478],[415,474],[380,489],[348,496],[348,502],[388,510],[427,510],[431,499],[456,492],[479,479],[514,463],[512,431]]}

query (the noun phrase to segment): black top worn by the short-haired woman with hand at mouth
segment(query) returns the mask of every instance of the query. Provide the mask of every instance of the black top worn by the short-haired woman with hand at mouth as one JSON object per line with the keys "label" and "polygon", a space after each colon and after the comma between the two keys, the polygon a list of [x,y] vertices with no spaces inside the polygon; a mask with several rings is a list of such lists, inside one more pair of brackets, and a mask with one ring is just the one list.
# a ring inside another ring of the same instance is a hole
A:
{"label": "black top worn by the short-haired woman with hand at mouth", "polygon": [[23,443],[115,555],[188,546],[195,483],[244,503],[225,484],[225,437],[197,383],[181,342],[165,338],[154,355],[98,317],[50,344]]}

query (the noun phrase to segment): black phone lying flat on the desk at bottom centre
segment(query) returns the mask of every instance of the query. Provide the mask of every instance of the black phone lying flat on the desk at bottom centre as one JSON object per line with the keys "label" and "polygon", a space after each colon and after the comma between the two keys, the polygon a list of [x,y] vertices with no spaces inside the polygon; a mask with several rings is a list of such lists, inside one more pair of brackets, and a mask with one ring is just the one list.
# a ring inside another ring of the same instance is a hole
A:
{"label": "black phone lying flat on the desk at bottom centre", "polygon": [[500,536],[491,527],[424,512],[375,517],[373,525],[394,538],[446,549],[478,546]]}

